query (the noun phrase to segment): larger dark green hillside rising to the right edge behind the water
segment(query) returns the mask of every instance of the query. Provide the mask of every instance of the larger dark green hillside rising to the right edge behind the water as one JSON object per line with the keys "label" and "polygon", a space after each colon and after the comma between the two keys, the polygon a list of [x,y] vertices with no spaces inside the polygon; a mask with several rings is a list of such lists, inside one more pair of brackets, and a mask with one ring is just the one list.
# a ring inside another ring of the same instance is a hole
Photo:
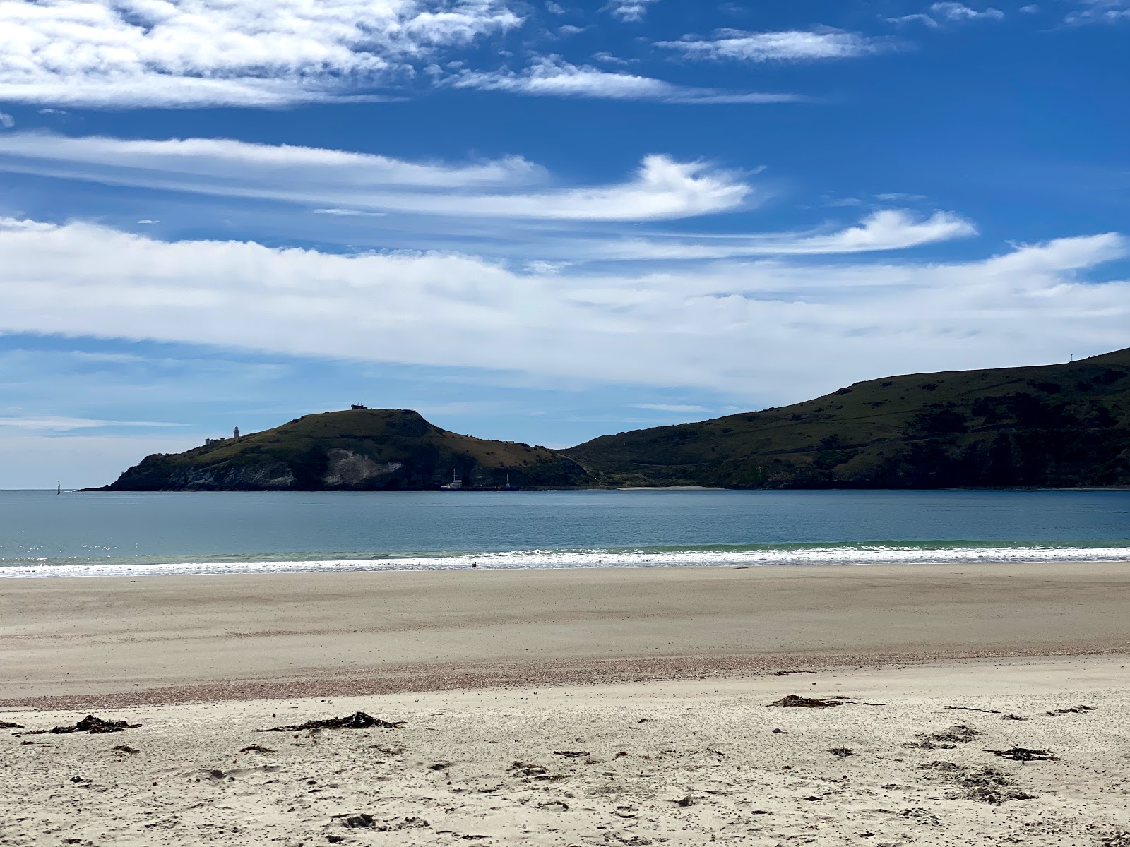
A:
{"label": "larger dark green hillside rising to the right edge behind the water", "polygon": [[782,409],[562,452],[605,484],[1130,484],[1130,349],[1063,365],[871,379]]}

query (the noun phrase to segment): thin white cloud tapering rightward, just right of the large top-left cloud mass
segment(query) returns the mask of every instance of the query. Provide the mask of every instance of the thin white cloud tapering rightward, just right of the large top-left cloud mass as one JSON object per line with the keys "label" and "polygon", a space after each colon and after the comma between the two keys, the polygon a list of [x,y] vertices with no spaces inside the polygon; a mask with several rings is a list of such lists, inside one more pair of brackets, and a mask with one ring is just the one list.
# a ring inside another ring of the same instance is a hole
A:
{"label": "thin white cloud tapering rightward, just right of the large top-left cloud mass", "polygon": [[450,77],[445,85],[483,91],[510,91],[536,97],[591,97],[661,103],[789,103],[803,99],[793,94],[741,94],[713,88],[693,88],[634,73],[610,73],[591,66],[576,66],[560,56],[545,56],[521,72],[470,71]]}

